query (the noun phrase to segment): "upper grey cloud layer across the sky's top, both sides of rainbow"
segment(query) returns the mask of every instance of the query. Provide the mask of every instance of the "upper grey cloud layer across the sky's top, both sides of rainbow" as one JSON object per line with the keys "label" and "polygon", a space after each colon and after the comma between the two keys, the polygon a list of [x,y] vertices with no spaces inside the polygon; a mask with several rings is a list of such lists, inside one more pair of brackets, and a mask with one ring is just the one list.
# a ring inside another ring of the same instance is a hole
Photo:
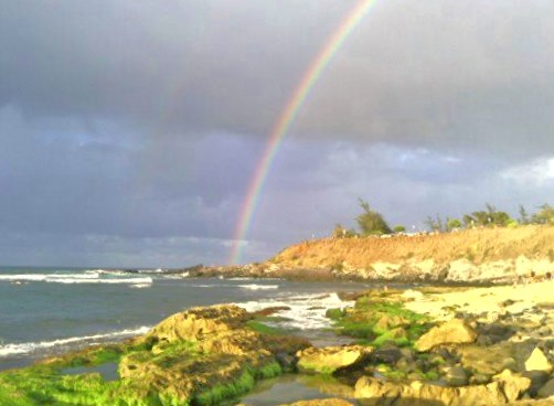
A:
{"label": "upper grey cloud layer across the sky's top, both sides of rainbow", "polygon": [[[266,137],[354,3],[3,1],[0,104],[155,138]],[[541,0],[377,1],[292,132],[515,158],[552,149],[552,15]]]}

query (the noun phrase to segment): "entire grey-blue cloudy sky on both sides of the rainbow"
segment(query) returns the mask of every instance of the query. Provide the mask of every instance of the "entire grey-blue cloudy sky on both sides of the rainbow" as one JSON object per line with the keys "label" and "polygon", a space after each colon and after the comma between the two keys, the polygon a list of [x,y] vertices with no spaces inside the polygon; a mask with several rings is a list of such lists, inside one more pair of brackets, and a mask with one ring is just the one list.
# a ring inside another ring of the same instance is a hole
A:
{"label": "entire grey-blue cloudy sky on both sides of the rainbow", "polygon": [[[271,128],[354,0],[0,0],[0,264],[225,264]],[[554,203],[554,2],[376,0],[242,246]]]}

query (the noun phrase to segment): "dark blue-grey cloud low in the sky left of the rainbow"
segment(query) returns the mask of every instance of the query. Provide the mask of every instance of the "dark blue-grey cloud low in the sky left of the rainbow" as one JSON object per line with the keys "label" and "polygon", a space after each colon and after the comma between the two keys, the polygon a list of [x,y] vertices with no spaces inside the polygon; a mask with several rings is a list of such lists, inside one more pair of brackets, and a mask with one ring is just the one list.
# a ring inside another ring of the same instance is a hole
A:
{"label": "dark blue-grey cloud low in the sky left of the rainbow", "polygon": [[[227,175],[205,147],[181,140],[164,149],[155,171],[148,143],[121,142],[121,132],[104,137],[45,133],[15,110],[0,109],[0,229],[137,238],[231,234],[235,207],[227,194],[242,190],[236,177],[247,178],[251,168]],[[212,153],[223,156],[217,148]],[[195,173],[203,171],[219,179]]]}

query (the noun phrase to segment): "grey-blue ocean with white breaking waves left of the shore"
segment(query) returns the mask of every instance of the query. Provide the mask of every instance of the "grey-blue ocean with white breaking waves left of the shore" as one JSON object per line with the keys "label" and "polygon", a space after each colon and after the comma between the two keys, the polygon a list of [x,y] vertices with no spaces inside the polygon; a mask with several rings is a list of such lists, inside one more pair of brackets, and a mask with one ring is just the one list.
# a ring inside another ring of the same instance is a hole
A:
{"label": "grey-blue ocean with white breaking waves left of the shore", "polygon": [[[247,310],[286,306],[284,328],[316,338],[353,282],[188,278],[162,269],[0,267],[0,370],[142,334],[195,306],[237,303]],[[319,332],[319,333],[318,333]],[[320,335],[319,335],[320,336]]]}

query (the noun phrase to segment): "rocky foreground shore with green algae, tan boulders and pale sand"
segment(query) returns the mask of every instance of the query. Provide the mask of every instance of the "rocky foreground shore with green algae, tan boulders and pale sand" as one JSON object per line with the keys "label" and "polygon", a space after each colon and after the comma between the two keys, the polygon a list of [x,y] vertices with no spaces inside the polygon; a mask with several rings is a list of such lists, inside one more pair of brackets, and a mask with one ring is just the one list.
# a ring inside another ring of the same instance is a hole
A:
{"label": "rocky foreground shore with green algae, tan boulders and pale sand", "polygon": [[[284,373],[320,376],[308,405],[554,404],[554,282],[352,293],[321,309],[345,345],[275,328],[279,309],[193,308],[142,336],[0,373],[7,405],[236,405]],[[108,377],[103,368],[114,367]]]}

